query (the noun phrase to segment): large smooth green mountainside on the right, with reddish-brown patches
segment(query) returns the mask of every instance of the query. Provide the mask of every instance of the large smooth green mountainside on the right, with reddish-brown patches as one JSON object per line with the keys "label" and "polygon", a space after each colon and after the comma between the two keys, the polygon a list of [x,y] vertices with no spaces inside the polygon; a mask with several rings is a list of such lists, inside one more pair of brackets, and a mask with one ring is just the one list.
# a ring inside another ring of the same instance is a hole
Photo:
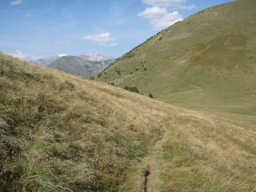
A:
{"label": "large smooth green mountainside on the right, with reddish-brown patches", "polygon": [[96,79],[135,86],[186,109],[255,115],[255,9],[253,0],[206,8],[164,29]]}

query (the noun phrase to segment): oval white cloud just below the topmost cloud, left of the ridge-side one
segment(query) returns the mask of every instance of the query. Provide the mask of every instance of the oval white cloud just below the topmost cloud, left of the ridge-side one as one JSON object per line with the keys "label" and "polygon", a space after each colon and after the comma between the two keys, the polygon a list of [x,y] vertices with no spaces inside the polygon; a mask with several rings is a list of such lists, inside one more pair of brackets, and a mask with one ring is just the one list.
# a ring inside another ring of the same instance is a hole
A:
{"label": "oval white cloud just below the topmost cloud, left of the ridge-side one", "polygon": [[138,17],[144,17],[146,19],[153,19],[157,17],[161,17],[163,15],[166,15],[167,9],[166,8],[160,8],[160,7],[147,7],[145,11],[140,12],[137,14]]}

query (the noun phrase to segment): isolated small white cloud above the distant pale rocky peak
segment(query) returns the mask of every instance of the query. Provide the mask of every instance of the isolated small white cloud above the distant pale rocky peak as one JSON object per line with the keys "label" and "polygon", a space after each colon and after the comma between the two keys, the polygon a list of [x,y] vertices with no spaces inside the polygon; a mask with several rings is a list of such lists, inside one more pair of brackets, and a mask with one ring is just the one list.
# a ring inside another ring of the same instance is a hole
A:
{"label": "isolated small white cloud above the distant pale rocky peak", "polygon": [[109,32],[107,32],[107,33],[102,33],[102,34],[97,34],[97,35],[89,35],[89,36],[86,36],[86,37],[82,37],[81,39],[82,40],[93,41],[95,43],[100,43],[100,45],[106,46],[106,47],[118,45],[118,43],[108,44],[108,42],[115,41],[115,39],[110,38],[110,36],[111,36],[111,34]]}

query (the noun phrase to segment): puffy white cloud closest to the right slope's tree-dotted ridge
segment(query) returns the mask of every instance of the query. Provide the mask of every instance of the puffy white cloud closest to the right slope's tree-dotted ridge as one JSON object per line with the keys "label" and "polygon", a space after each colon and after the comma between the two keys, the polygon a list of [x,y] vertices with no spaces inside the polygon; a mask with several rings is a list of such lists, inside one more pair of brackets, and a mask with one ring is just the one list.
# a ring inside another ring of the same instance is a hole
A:
{"label": "puffy white cloud closest to the right slope's tree-dotted ridge", "polygon": [[166,14],[161,18],[151,19],[150,24],[152,25],[152,30],[162,30],[181,20],[183,20],[182,15],[175,11]]}

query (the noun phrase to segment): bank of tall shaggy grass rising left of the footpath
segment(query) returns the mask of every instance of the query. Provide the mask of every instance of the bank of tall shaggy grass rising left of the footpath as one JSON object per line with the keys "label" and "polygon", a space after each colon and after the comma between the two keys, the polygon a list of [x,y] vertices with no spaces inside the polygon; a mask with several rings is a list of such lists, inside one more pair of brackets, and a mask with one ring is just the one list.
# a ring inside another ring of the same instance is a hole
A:
{"label": "bank of tall shaggy grass rising left of the footpath", "polygon": [[137,94],[0,61],[0,191],[109,191],[163,132],[161,103],[145,109]]}

